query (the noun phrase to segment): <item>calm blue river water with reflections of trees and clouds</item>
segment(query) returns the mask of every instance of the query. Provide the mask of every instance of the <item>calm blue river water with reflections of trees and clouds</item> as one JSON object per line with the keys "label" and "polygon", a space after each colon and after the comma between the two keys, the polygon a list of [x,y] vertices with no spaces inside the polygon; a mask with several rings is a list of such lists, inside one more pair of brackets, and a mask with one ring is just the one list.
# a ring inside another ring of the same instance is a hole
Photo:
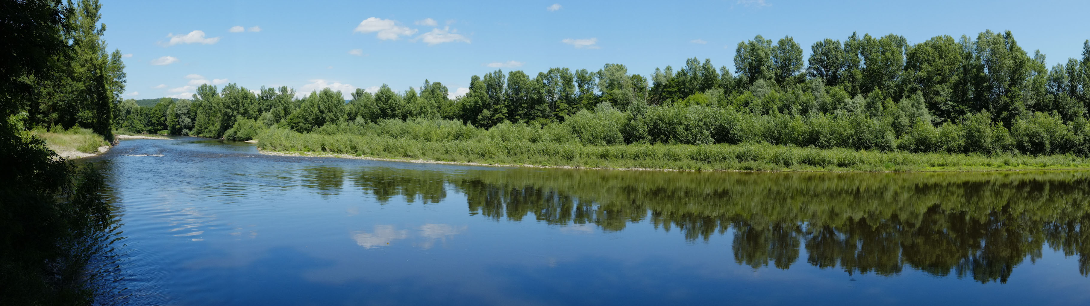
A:
{"label": "calm blue river water with reflections of trees and clouds", "polygon": [[131,305],[1090,303],[1090,172],[542,170],[202,138],[90,161]]}

